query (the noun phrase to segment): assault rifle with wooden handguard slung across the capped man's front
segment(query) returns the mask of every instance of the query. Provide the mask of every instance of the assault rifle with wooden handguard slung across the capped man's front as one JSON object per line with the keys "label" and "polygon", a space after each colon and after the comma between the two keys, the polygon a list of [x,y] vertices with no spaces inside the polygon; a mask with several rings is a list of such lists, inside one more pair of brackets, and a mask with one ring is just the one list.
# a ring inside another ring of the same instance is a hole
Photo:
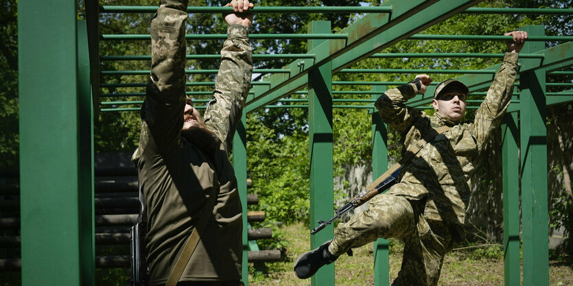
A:
{"label": "assault rifle with wooden handguard slung across the capped man's front", "polygon": [[334,211],[336,213],[334,217],[327,220],[326,222],[319,219],[318,226],[316,226],[316,228],[314,228],[313,230],[310,230],[310,234],[314,235],[315,233],[318,233],[320,230],[322,230],[323,228],[334,222],[335,219],[342,217],[342,215],[344,215],[345,213],[352,211],[354,208],[361,206],[365,202],[368,202],[375,195],[382,193],[383,191],[386,191],[387,189],[392,187],[394,184],[398,182],[398,176],[400,174],[401,169],[402,167],[397,167],[397,169],[395,170],[390,169],[386,171],[386,173],[382,174],[382,176],[377,178],[377,180],[369,184],[369,186],[366,187],[366,189],[358,193],[358,195],[356,195],[352,200],[349,200],[347,204],[344,204],[344,206]]}

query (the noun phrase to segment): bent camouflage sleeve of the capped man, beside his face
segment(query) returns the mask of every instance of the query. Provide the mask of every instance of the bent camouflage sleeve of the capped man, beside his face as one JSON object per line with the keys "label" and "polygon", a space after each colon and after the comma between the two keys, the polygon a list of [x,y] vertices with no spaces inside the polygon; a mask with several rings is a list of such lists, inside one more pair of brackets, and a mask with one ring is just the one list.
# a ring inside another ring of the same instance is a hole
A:
{"label": "bent camouflage sleeve of the capped man, beside his face", "polygon": [[384,123],[404,133],[421,116],[421,112],[406,106],[408,99],[416,96],[418,88],[414,83],[392,88],[376,100],[375,107]]}

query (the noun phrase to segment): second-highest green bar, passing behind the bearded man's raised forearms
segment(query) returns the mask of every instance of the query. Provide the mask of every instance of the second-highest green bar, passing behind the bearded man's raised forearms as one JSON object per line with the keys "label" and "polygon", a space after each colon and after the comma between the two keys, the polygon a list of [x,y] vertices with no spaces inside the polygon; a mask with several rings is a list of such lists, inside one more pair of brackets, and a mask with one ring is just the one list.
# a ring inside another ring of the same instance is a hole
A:
{"label": "second-highest green bar, passing behind the bearded man's raised forearms", "polygon": [[[347,39],[347,34],[250,34],[251,40],[274,39]],[[103,34],[100,40],[150,40],[150,34]],[[225,40],[227,34],[186,34],[187,40]]]}

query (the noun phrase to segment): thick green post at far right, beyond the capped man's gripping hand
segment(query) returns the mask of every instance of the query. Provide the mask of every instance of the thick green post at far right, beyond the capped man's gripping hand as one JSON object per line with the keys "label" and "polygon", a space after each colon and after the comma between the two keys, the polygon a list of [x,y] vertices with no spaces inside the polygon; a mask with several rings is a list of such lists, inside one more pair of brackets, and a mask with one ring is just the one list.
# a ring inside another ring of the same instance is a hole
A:
{"label": "thick green post at far right, beyond the capped man's gripping hand", "polygon": [[[530,36],[545,34],[543,26],[523,30]],[[528,41],[522,53],[542,49],[544,41]],[[524,286],[549,285],[545,74],[545,69],[526,71],[519,80]]]}

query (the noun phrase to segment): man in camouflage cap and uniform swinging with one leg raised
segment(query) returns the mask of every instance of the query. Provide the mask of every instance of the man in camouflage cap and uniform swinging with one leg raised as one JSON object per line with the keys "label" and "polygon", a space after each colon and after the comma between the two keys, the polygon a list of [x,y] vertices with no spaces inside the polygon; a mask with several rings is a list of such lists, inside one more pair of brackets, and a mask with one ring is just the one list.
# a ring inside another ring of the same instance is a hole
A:
{"label": "man in camouflage cap and uniform swinging with one leg raised", "polygon": [[502,67],[473,123],[459,124],[469,90],[458,80],[445,80],[436,86],[432,117],[405,105],[417,93],[425,92],[432,82],[428,75],[417,75],[414,81],[377,99],[375,106],[384,122],[403,135],[402,156],[415,153],[417,143],[428,133],[437,133],[441,126],[450,128],[404,164],[399,183],[370,200],[366,211],[338,224],[333,240],[302,254],[294,266],[299,278],[309,278],[352,248],[378,237],[395,237],[404,241],[404,258],[392,285],[437,285],[445,254],[463,236],[461,226],[476,160],[493,130],[500,126],[513,93],[517,58],[527,34],[516,31],[505,35],[513,36],[513,41],[506,42],[508,52]]}

